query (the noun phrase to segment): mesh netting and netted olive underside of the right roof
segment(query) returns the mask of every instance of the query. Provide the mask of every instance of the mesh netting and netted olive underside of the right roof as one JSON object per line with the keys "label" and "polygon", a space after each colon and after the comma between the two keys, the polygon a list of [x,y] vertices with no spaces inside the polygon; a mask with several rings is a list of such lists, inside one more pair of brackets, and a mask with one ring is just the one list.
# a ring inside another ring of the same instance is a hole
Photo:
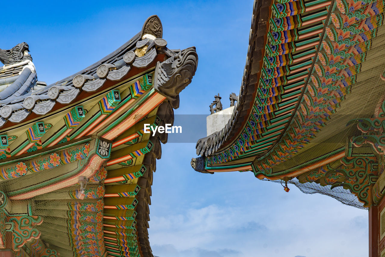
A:
{"label": "mesh netting and netted olive underside of the right roof", "polygon": [[[344,89],[346,94],[343,98],[331,103],[335,106],[335,111],[328,114],[329,117],[321,126],[318,125],[320,129],[308,138],[308,142],[296,154],[274,166],[273,172],[285,174],[287,169],[301,163],[312,160],[317,160],[313,163],[323,162],[323,165],[308,169],[300,176],[288,180],[289,185],[295,185],[303,193],[327,195],[345,205],[366,210],[372,203],[372,187],[383,172],[385,154],[384,142],[381,141],[385,133],[385,81],[382,79],[385,72],[384,32],[385,27],[382,26],[377,37],[371,41],[372,48],[365,52],[365,61],[353,65],[355,74],[350,76],[352,84]],[[318,95],[315,91],[318,98],[311,96],[308,91],[305,92],[308,99],[318,99],[318,103],[310,103],[313,107],[328,103],[328,95],[321,92],[328,91],[328,88],[318,90]],[[305,118],[310,123],[312,117],[309,115]],[[308,125],[301,128],[305,130],[306,126]],[[298,130],[297,133],[303,132]],[[328,153],[337,150],[345,152],[344,157],[327,161],[330,157]],[[320,158],[321,156],[327,157]],[[281,179],[262,180],[285,185],[285,181]],[[365,186],[368,186],[369,193],[363,194]],[[363,199],[363,195],[367,198]]]}

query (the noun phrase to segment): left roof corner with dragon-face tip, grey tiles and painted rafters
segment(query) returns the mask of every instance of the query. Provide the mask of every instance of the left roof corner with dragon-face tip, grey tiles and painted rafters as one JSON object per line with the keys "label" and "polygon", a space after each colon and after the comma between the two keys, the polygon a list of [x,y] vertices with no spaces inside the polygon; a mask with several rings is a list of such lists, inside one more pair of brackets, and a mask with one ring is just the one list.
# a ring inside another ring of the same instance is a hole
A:
{"label": "left roof corner with dragon-face tip, grey tiles and painted rafters", "polygon": [[[10,88],[11,96],[0,101],[16,115],[47,101],[61,103],[37,122],[27,115],[0,138],[0,202],[28,203],[28,213],[18,220],[30,219],[28,229],[35,231],[34,238],[28,234],[9,244],[17,257],[152,257],[147,231],[152,172],[167,134],[147,134],[143,125],[173,123],[178,94],[198,64],[195,47],[170,51],[164,39],[155,38],[161,35],[153,15],[126,46],[91,68],[37,93],[12,96],[17,90]],[[28,81],[28,69],[20,80]],[[97,81],[102,85],[92,88]],[[75,92],[69,102],[76,104],[63,103],[68,91]],[[12,117],[8,120],[17,123]],[[0,213],[6,205],[0,204]]]}

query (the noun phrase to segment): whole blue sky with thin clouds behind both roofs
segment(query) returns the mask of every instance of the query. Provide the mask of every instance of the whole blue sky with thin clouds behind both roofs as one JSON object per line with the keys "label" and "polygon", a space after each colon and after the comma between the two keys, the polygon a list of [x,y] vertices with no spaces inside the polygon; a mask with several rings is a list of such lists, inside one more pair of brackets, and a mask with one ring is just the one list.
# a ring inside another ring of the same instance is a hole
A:
{"label": "whole blue sky with thin clouds behind both roofs", "polygon": [[[196,75],[182,91],[175,114],[208,115],[214,95],[224,96],[226,108],[227,96],[239,92],[251,0],[52,1],[18,6],[12,17],[3,17],[0,48],[27,42],[38,78],[47,84],[114,51],[141,30],[147,17],[157,14],[167,46],[196,46],[199,56]],[[286,193],[280,184],[259,181],[251,172],[201,174],[190,166],[195,156],[194,143],[162,145],[150,206],[154,255],[367,256],[366,210],[303,194],[294,186]]]}

